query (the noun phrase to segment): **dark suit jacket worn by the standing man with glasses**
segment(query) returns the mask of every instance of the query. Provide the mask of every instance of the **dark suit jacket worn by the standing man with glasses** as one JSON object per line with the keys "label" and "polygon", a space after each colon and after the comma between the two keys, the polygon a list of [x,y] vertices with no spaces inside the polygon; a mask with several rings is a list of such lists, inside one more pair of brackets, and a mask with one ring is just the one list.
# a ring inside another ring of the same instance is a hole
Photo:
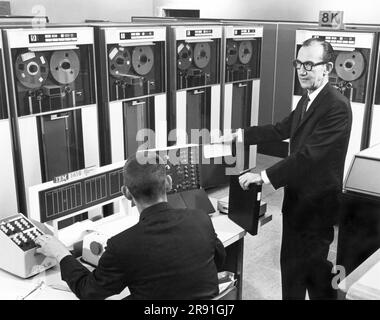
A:
{"label": "dark suit jacket worn by the standing man with glasses", "polygon": [[244,139],[257,144],[290,138],[289,156],[266,172],[275,189],[285,187],[284,219],[297,229],[318,229],[336,222],[352,112],[346,97],[326,84],[300,122],[304,99],[281,122],[244,130]]}

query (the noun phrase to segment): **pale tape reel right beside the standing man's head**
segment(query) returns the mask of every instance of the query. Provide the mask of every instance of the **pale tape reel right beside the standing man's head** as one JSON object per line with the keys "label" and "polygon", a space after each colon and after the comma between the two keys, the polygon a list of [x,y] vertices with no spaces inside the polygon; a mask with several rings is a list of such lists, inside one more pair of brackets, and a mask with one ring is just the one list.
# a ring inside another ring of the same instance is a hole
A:
{"label": "pale tape reel right beside the standing man's head", "polygon": [[344,81],[359,79],[364,69],[364,56],[359,51],[341,52],[335,59],[336,73]]}

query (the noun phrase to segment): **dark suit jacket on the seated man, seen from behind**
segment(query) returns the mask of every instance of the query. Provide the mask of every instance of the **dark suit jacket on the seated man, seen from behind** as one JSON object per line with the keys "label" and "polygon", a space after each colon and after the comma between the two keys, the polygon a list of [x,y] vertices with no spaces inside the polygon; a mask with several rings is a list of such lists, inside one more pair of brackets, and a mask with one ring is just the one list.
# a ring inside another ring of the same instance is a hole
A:
{"label": "dark suit jacket on the seated man, seen from behind", "polygon": [[62,279],[80,299],[104,299],[128,286],[130,299],[209,299],[218,294],[225,250],[210,217],[161,202],[107,242],[90,273],[74,257],[61,260]]}

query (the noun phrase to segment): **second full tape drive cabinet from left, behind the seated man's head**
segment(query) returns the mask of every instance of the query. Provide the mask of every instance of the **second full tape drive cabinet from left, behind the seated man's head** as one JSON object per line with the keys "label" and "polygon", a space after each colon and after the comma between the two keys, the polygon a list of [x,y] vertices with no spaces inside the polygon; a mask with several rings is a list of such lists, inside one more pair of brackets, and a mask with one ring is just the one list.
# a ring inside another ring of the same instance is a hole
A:
{"label": "second full tape drive cabinet from left, behind the seated man's head", "polygon": [[165,147],[166,28],[124,25],[96,29],[102,164],[139,147]]}

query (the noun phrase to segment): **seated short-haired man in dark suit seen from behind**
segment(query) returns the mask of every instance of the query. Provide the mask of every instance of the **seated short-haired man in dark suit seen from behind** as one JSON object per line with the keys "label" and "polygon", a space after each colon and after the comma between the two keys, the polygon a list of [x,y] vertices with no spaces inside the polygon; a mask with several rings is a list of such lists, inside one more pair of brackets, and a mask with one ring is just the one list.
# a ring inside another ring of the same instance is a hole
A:
{"label": "seated short-haired man in dark suit seen from behind", "polygon": [[108,240],[93,272],[52,236],[36,239],[37,252],[58,260],[62,279],[80,299],[104,299],[126,286],[128,299],[215,297],[225,250],[210,217],[171,208],[166,190],[172,181],[162,159],[144,153],[143,162],[139,154],[126,161],[123,186],[123,194],[137,206],[139,222]]}

